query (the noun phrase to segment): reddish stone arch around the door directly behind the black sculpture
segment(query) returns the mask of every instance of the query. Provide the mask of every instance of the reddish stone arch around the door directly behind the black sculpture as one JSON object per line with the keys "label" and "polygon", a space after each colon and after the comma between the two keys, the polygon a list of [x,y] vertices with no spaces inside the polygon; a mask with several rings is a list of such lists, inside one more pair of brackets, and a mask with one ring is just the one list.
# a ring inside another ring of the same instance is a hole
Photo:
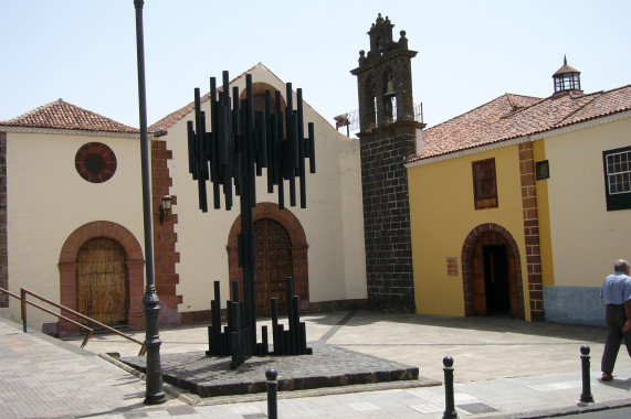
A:
{"label": "reddish stone arch around the door directly behind the black sculpture", "polygon": [[[301,298],[301,310],[309,308],[309,282],[308,282],[308,259],[307,259],[307,239],[305,230],[299,219],[287,208],[278,210],[278,205],[262,202],[252,208],[252,223],[271,218],[281,224],[290,234],[292,240],[292,265],[294,272],[294,293]],[[241,215],[234,219],[230,234],[228,236],[228,267],[230,282],[242,280],[243,272],[239,267],[239,249],[238,236],[241,233]]]}

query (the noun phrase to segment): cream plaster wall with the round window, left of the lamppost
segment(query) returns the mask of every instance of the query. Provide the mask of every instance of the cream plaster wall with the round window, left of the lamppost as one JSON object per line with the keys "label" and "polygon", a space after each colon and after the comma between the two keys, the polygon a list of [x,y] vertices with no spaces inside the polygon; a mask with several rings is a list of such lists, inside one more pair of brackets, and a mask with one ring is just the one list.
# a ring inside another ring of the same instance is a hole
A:
{"label": "cream plaster wall with the round window, left of the lamppost", "polygon": [[[107,144],[116,154],[114,176],[90,183],[78,175],[76,151],[87,142]],[[93,221],[117,223],[143,240],[138,138],[87,135],[17,133],[7,139],[7,228],[9,290],[24,287],[60,301],[57,262],[66,238]],[[20,319],[10,300],[9,315]],[[29,308],[29,326],[41,330],[57,319]]]}

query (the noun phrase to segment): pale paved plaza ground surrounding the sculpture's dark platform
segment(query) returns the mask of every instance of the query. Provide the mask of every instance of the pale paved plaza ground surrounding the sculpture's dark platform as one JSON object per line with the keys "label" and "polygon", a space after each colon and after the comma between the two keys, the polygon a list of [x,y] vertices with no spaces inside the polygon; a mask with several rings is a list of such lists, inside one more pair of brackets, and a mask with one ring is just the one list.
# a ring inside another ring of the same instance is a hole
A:
{"label": "pale paved plaza ground surrounding the sculpture's dark platform", "polygon": [[[442,357],[453,356],[459,417],[544,417],[631,405],[631,359],[624,351],[617,363],[617,379],[596,379],[604,327],[371,312],[305,315],[303,320],[312,343],[418,366],[421,376],[432,379],[442,380]],[[160,337],[165,354],[207,348],[203,327],[162,330]],[[264,394],[202,399],[168,385],[166,404],[144,406],[144,382],[95,355],[136,355],[138,347],[127,346],[117,336],[97,336],[86,351],[76,348],[80,341],[24,334],[18,324],[1,320],[0,340],[2,417],[192,419],[262,418],[266,413]],[[582,344],[592,351],[593,404],[578,401]],[[350,386],[281,391],[278,397],[281,418],[440,418],[444,410],[443,386]]]}

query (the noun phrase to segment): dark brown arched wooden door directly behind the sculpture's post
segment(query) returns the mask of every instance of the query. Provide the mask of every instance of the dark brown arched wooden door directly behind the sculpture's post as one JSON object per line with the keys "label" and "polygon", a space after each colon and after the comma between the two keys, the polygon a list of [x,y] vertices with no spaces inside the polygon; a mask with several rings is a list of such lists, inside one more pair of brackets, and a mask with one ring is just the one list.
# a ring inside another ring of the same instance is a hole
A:
{"label": "dark brown arched wooden door directly behind the sculpture's post", "polygon": [[280,223],[262,218],[254,223],[256,268],[254,270],[256,314],[271,314],[271,298],[276,298],[278,311],[287,311],[286,278],[293,277],[292,241]]}

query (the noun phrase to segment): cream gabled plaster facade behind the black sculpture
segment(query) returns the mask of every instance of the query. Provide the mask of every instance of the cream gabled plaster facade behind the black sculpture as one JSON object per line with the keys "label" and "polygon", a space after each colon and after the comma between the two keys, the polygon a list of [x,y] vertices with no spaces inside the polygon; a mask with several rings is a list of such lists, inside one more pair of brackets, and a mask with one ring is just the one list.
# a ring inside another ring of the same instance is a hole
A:
{"label": "cream gabled plaster facade behind the black sculpture", "polygon": [[[266,83],[285,97],[285,85],[265,67],[255,66],[250,73],[253,83]],[[235,79],[232,86],[242,92],[245,77]],[[295,104],[294,94],[294,107]],[[208,101],[202,107],[209,115]],[[305,132],[307,122],[315,125],[316,173],[307,170],[307,207],[299,207],[299,198],[298,206],[290,206],[288,183],[285,183],[285,205],[299,219],[307,238],[309,300],[365,299],[359,143],[338,133],[306,103],[304,112]],[[178,294],[183,298],[181,312],[208,310],[214,280],[221,281],[222,304],[225,303],[224,297],[229,296],[225,245],[230,228],[240,214],[236,196],[231,211],[225,211],[223,195],[221,210],[212,207],[210,182],[207,183],[209,212],[203,214],[199,210],[198,185],[188,172],[187,120],[194,120],[194,114],[180,119],[165,137],[173,154],[169,169],[173,179],[171,194],[177,195],[173,213],[178,214],[176,233],[180,262],[176,269],[180,277]],[[299,197],[299,187],[296,190]],[[256,179],[256,201],[277,203],[277,190],[267,193],[265,170],[263,176]]]}

